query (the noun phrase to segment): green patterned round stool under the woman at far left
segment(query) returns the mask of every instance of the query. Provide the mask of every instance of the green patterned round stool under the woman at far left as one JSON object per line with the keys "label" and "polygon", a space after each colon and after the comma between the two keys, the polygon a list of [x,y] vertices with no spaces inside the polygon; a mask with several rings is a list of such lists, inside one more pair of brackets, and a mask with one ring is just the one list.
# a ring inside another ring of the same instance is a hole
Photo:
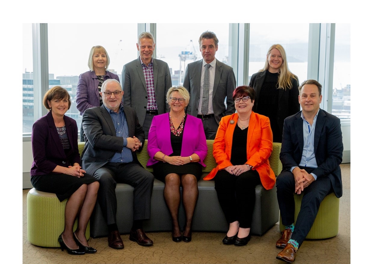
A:
{"label": "green patterned round stool under the woman at far left", "polygon": [[[65,226],[67,199],[60,202],[56,194],[32,188],[27,194],[27,239],[31,244],[44,247],[60,247],[57,241]],[[78,226],[75,220],[74,228]],[[85,237],[90,238],[90,222]]]}

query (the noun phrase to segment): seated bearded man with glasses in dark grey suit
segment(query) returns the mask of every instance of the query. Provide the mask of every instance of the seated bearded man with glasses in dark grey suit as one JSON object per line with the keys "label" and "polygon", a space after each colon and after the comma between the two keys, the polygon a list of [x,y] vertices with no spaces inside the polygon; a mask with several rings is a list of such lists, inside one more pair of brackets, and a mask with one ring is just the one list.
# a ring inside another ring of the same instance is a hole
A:
{"label": "seated bearded man with glasses in dark grey suit", "polygon": [[101,97],[102,106],[89,108],[83,114],[86,141],[82,166],[100,182],[97,201],[107,220],[109,246],[124,248],[116,224],[117,182],[135,188],[134,223],[129,239],[142,246],[153,245],[142,230],[142,220],[150,219],[154,176],[141,166],[135,153],[141,151],[144,131],[135,110],[121,104],[123,91],[117,80],[108,79],[103,83]]}

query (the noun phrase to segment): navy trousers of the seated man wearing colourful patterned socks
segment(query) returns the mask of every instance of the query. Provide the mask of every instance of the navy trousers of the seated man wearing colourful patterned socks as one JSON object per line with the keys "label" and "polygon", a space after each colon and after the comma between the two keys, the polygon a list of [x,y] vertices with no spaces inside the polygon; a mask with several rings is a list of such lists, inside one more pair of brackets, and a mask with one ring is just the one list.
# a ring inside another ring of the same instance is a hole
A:
{"label": "navy trousers of the seated man wearing colourful patterned socks", "polygon": [[[313,169],[300,167],[311,173]],[[287,226],[294,223],[295,213],[295,180],[294,175],[290,171],[283,171],[276,179],[277,200],[280,207],[282,224]],[[310,232],[313,222],[315,221],[317,212],[319,211],[320,203],[326,195],[333,191],[332,182],[326,176],[317,177],[317,180],[312,182],[303,191],[301,209],[295,223],[294,232],[291,236],[295,239],[299,246],[303,243],[308,232]]]}

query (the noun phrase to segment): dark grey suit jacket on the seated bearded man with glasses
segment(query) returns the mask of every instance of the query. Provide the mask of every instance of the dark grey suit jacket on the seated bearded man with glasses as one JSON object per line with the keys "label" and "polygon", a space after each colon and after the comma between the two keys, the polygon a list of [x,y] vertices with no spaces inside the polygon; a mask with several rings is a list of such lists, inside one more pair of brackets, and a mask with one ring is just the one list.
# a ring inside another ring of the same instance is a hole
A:
{"label": "dark grey suit jacket on the seated bearded man with glasses", "polygon": [[[145,134],[135,110],[127,106],[124,106],[123,110],[128,124],[128,136],[136,136],[144,145]],[[122,152],[123,137],[116,136],[113,120],[104,105],[85,110],[82,124],[86,140],[81,164],[88,174],[93,175],[97,169],[108,163],[116,152]],[[141,148],[138,151],[141,151]],[[132,156],[134,162],[141,166],[136,152],[132,152]]]}

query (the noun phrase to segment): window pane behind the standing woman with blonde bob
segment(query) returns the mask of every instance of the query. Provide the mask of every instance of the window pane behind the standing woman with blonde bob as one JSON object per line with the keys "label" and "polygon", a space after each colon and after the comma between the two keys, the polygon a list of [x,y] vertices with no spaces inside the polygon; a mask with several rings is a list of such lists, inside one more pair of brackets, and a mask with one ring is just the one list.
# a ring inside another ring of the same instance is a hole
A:
{"label": "window pane behind the standing woman with blonde bob", "polygon": [[103,46],[110,57],[109,71],[121,80],[125,63],[137,57],[137,24],[53,24],[48,23],[49,88],[60,85],[72,96],[66,115],[81,124],[76,109],[79,74],[88,71],[88,57],[95,45]]}

